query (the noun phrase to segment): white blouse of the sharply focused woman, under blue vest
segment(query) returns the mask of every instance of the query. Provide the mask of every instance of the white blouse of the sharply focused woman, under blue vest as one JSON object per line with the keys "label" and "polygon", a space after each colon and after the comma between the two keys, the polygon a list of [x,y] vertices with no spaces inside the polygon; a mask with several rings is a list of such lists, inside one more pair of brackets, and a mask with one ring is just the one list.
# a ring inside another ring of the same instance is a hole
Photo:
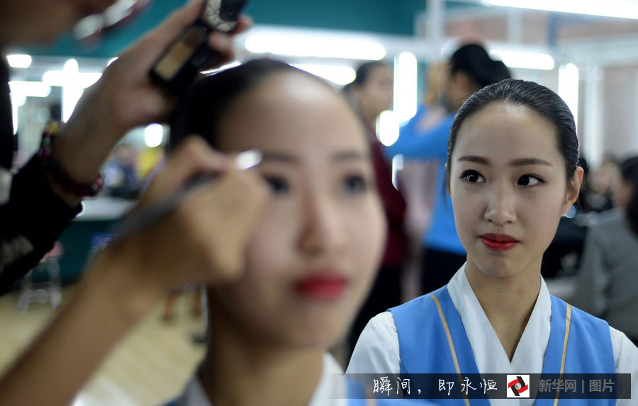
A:
{"label": "white blouse of the sharply focused woman, under blue vest", "polygon": [[[481,373],[542,373],[549,342],[552,301],[547,285],[541,278],[541,288],[525,331],[510,362],[465,274],[465,265],[447,285],[457,308]],[[610,327],[617,373],[632,374],[632,399],[638,395],[638,348],[622,332]],[[480,349],[480,351],[476,351]],[[346,373],[400,373],[398,335],[391,312],[373,317],[364,328]],[[491,405],[532,406],[534,399],[498,399]],[[635,400],[617,401],[617,406],[634,405]]]}

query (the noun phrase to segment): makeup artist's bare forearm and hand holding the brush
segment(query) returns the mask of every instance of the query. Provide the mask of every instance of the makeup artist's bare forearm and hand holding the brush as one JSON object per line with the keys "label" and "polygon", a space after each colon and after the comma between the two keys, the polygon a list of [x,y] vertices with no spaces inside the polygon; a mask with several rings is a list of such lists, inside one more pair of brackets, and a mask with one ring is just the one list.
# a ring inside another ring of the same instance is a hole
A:
{"label": "makeup artist's bare forearm and hand holding the brush", "polygon": [[140,205],[162,201],[194,175],[211,172],[218,174],[216,181],[192,191],[172,215],[107,246],[91,261],[52,324],[1,377],[1,405],[71,404],[164,290],[240,275],[243,248],[268,196],[256,173],[235,169],[233,157],[191,138],[173,152]]}

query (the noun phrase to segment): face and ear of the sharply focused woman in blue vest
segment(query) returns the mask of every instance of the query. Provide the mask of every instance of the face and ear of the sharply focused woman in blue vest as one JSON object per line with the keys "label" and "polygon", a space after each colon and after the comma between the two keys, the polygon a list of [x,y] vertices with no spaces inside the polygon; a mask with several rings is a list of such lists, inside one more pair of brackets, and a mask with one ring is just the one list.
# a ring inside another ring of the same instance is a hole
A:
{"label": "face and ear of the sharply focused woman in blue vest", "polygon": [[567,184],[554,125],[528,108],[493,103],[461,125],[450,164],[467,271],[495,278],[538,273],[582,179],[578,168]]}

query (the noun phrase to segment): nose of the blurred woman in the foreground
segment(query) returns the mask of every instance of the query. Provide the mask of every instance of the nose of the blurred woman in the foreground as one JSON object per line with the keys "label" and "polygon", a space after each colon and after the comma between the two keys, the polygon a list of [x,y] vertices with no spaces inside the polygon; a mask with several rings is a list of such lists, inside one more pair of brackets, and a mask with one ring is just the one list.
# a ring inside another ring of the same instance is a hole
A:
{"label": "nose of the blurred woman in the foreground", "polygon": [[303,225],[299,246],[307,254],[325,254],[345,246],[345,219],[330,196],[308,193],[303,200]]}

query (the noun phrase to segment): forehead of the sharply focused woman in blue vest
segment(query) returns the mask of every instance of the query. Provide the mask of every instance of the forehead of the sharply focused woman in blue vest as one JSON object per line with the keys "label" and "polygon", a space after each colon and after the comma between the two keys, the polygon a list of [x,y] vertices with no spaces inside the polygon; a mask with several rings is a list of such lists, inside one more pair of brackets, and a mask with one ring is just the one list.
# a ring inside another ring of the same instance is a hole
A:
{"label": "forehead of the sharply focused woman in blue vest", "polygon": [[533,157],[556,168],[562,162],[554,124],[530,108],[504,103],[492,103],[461,125],[452,160],[468,154],[492,162]]}

